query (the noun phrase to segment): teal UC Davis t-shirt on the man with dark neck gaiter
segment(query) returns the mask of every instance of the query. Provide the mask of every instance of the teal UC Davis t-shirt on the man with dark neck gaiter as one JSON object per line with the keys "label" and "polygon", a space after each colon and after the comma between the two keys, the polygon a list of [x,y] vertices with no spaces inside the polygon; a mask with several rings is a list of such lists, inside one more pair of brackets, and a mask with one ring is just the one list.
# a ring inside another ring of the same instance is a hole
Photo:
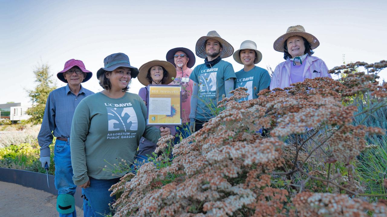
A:
{"label": "teal UC Davis t-shirt on the man with dark neck gaiter", "polygon": [[213,111],[217,107],[217,102],[226,95],[224,91],[224,81],[229,78],[236,78],[231,63],[224,60],[208,68],[205,64],[200,64],[194,68],[190,79],[199,84],[196,119],[209,120],[214,117]]}

